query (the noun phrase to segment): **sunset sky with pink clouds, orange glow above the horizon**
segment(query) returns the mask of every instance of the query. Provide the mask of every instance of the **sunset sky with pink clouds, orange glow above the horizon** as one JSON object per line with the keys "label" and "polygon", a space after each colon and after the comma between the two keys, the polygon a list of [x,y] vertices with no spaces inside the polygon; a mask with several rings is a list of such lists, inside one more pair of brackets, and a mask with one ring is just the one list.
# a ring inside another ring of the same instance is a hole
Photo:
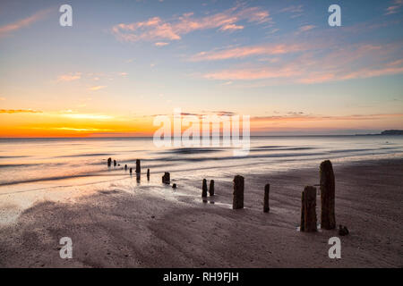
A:
{"label": "sunset sky with pink clouds, orange glow above the horizon", "polygon": [[252,135],[403,129],[402,15],[403,0],[2,0],[0,137],[152,136],[174,108],[250,115]]}

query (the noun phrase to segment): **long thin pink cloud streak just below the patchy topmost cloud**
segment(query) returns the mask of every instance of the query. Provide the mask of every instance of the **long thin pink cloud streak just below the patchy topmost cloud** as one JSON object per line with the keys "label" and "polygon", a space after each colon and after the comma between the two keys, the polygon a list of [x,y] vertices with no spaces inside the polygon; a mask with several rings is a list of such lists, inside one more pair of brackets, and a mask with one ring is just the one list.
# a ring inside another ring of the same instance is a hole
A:
{"label": "long thin pink cloud streak just below the patchy topmost cloud", "polygon": [[307,45],[267,44],[260,46],[241,46],[219,51],[201,52],[190,58],[192,62],[240,59],[253,55],[283,55],[307,49]]}

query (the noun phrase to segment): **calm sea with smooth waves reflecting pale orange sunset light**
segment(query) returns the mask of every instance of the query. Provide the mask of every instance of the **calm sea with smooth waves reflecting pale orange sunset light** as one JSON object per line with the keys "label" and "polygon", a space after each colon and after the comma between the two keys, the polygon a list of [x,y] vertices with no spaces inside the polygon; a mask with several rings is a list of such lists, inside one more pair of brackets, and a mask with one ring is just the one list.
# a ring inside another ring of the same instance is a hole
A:
{"label": "calm sea with smooth waves reflecting pale orange sunset light", "polygon": [[[124,164],[141,172],[175,172],[191,178],[234,172],[275,172],[312,167],[324,159],[346,161],[402,157],[403,136],[253,137],[249,156],[231,148],[158,148],[150,138],[0,139],[0,193],[30,183],[74,184],[72,179],[101,181],[127,176]],[[107,168],[107,158],[120,166]]]}

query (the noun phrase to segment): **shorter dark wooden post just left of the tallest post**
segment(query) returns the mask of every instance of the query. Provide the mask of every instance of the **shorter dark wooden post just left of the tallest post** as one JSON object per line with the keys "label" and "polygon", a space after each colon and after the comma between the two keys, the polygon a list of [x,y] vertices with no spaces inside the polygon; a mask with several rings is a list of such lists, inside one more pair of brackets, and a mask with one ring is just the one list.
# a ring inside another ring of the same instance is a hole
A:
{"label": "shorter dark wooden post just left of the tallest post", "polygon": [[301,197],[301,231],[317,231],[316,188],[306,186]]}

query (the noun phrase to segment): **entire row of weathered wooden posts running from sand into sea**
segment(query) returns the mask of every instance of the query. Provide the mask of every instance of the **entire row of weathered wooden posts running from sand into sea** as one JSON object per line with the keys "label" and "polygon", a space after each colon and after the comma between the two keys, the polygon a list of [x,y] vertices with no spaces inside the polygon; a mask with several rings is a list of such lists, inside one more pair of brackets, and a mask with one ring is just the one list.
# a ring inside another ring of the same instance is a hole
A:
{"label": "entire row of weathered wooden posts running from sand into sea", "polygon": [[[113,161],[116,166],[116,160]],[[107,159],[107,166],[111,166],[112,158]],[[124,165],[124,170],[127,171],[127,164]],[[140,176],[141,163],[136,160],[136,174]],[[133,170],[130,168],[130,174]],[[320,190],[321,190],[321,228],[325,230],[333,230],[336,228],[335,218],[335,177],[333,166],[329,160],[323,161],[319,167],[320,173]],[[147,180],[150,181],[150,169],[147,169]],[[170,173],[165,172],[162,176],[162,183],[170,184]],[[176,189],[174,183],[172,188]],[[210,181],[210,188],[207,189],[207,180],[203,179],[201,186],[201,197],[207,198],[207,192],[210,196],[214,196],[214,180]],[[263,195],[263,212],[270,211],[269,206],[270,184],[264,186]],[[244,208],[244,177],[236,175],[234,178],[233,192],[233,209]],[[306,186],[301,195],[301,222],[300,231],[317,231],[316,218],[316,188],[314,186]]]}

